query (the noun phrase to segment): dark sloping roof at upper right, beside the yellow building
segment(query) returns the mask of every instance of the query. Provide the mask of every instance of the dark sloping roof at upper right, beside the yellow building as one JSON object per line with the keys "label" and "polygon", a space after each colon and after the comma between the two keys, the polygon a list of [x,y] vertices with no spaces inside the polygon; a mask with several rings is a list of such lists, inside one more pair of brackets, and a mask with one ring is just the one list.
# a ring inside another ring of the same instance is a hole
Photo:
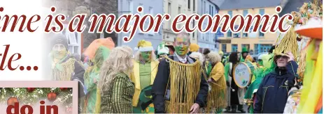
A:
{"label": "dark sloping roof at upper right, beside the yellow building", "polygon": [[279,16],[281,17],[287,13],[291,13],[292,11],[299,12],[300,7],[302,7],[304,3],[309,3],[309,2],[313,3],[313,0],[290,0],[286,4],[285,8],[283,8],[281,13],[279,13]]}

